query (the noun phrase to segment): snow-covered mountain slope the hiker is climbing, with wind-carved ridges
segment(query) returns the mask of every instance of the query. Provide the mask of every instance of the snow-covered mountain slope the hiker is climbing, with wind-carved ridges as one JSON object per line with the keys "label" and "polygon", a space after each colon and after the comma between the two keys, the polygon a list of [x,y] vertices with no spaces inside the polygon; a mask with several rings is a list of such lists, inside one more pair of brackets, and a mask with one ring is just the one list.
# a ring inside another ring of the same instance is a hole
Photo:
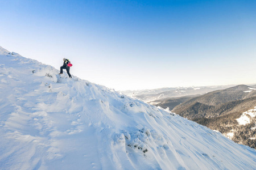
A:
{"label": "snow-covered mountain slope the hiker is climbing, with wind-carved ridges", "polygon": [[256,169],[255,150],[195,122],[1,47],[0,61],[0,169]]}

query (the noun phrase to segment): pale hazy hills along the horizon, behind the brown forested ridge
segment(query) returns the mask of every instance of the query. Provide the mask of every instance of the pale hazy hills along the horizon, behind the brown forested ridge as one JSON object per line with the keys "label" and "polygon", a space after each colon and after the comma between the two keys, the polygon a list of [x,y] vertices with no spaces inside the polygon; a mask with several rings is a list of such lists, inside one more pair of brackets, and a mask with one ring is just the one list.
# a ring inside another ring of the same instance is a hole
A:
{"label": "pale hazy hills along the horizon, behind the brown forested ridge", "polygon": [[203,95],[208,92],[223,90],[225,88],[232,87],[228,86],[204,86],[204,87],[176,87],[176,88],[158,88],[153,90],[141,90],[141,91],[122,91],[123,94],[137,97],[145,102],[154,100],[166,99],[168,97],[183,97],[192,95]]}

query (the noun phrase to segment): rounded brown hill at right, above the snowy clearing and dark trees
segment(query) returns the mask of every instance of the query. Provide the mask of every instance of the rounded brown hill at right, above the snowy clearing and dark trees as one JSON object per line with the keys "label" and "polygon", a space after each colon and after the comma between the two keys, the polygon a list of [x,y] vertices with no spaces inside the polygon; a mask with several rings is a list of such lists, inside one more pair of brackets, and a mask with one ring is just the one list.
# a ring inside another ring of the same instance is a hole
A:
{"label": "rounded brown hill at right, above the snowy clearing and dark trees", "polygon": [[189,119],[210,118],[230,113],[241,114],[254,106],[256,89],[239,85],[194,97],[177,105],[172,112]]}

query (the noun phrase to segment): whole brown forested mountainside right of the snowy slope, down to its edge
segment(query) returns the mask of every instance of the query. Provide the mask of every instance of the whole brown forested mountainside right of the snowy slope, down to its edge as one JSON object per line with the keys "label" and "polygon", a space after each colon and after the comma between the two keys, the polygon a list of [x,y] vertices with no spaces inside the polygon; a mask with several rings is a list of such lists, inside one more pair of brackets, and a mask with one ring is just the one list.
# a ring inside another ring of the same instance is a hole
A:
{"label": "whole brown forested mountainside right of the snowy slope, down to its edge", "polygon": [[[237,143],[256,148],[256,117],[253,117],[256,113],[252,116],[246,112],[256,106],[254,86],[239,85],[204,95],[155,100],[151,104],[169,108],[180,116],[220,131]],[[239,119],[248,122],[240,124]]]}

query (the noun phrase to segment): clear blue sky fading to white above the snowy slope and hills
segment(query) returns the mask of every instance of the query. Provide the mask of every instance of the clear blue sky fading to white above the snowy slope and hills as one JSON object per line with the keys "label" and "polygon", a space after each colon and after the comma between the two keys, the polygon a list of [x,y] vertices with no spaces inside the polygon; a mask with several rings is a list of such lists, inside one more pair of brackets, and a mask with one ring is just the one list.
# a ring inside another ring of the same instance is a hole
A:
{"label": "clear blue sky fading to white above the snowy slope and hills", "polygon": [[[0,0],[0,46],[115,90],[256,83],[256,1]],[[1,60],[0,60],[1,61]]]}

